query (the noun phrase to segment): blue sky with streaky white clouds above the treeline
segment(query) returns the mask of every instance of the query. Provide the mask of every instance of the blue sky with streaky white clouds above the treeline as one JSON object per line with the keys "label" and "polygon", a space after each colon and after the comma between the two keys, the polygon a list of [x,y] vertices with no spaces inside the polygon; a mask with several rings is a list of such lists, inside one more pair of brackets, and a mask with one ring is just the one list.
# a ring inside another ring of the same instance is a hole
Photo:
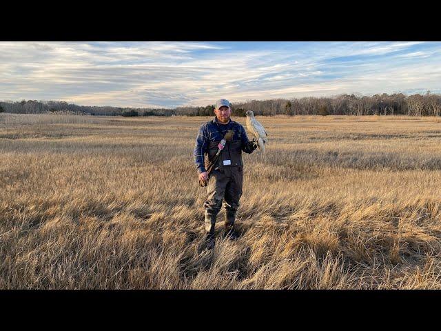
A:
{"label": "blue sky with streaky white clouds above the treeline", "polygon": [[440,83],[440,42],[0,42],[0,100],[174,108]]}

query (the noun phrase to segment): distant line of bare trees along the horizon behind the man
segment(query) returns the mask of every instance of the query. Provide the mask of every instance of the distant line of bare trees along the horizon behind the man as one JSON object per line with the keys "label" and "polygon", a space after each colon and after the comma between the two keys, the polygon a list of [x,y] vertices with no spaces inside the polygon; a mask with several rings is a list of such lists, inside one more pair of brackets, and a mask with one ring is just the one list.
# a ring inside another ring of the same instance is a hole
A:
{"label": "distant line of bare trees along the horizon behind the man", "polygon": [[[245,117],[247,110],[256,115],[397,115],[440,116],[441,94],[405,95],[375,94],[371,97],[340,94],[336,97],[304,97],[300,99],[252,100],[232,104],[233,116]],[[117,108],[77,106],[65,101],[5,101],[0,102],[0,112],[45,113],[68,112],[74,114],[113,116],[213,116],[214,106],[168,108]]]}

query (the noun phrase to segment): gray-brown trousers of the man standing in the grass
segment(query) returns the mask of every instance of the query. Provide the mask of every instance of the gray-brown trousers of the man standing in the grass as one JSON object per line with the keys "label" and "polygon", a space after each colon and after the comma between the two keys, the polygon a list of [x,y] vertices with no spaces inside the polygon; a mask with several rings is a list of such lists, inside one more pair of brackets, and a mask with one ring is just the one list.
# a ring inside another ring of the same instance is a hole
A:
{"label": "gray-brown trousers of the man standing in the grass", "polygon": [[225,208],[225,228],[234,227],[239,200],[242,196],[243,168],[225,167],[213,170],[207,185],[207,200],[205,208],[205,230],[214,234],[216,216],[223,206]]}

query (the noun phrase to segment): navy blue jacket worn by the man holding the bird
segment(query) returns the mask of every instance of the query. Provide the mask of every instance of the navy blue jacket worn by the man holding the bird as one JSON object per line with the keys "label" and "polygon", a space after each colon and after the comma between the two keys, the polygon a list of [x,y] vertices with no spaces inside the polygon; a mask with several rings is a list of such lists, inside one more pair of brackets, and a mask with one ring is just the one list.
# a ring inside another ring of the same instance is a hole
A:
{"label": "navy blue jacket worn by the man holding the bird", "polygon": [[[245,128],[240,123],[229,119],[228,124],[221,124],[216,117],[212,121],[204,123],[199,128],[198,137],[196,137],[196,144],[194,146],[193,158],[198,173],[207,171],[204,164],[204,155],[208,153],[209,145],[214,145],[214,142],[219,142],[227,130],[233,130],[233,139],[238,143],[240,140],[240,150],[251,154],[255,148],[249,141]],[[211,142],[211,143],[210,143]],[[238,150],[238,152],[240,152]],[[238,156],[240,158],[240,155]]]}

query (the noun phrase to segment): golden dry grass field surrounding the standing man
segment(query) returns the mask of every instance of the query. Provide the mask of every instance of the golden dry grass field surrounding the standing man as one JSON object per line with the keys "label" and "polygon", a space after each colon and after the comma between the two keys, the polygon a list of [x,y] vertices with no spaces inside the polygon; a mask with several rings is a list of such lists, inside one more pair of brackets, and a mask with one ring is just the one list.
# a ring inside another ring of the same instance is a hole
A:
{"label": "golden dry grass field surrounding the standing man", "polygon": [[440,119],[257,117],[205,251],[209,119],[0,114],[0,288],[441,288]]}

